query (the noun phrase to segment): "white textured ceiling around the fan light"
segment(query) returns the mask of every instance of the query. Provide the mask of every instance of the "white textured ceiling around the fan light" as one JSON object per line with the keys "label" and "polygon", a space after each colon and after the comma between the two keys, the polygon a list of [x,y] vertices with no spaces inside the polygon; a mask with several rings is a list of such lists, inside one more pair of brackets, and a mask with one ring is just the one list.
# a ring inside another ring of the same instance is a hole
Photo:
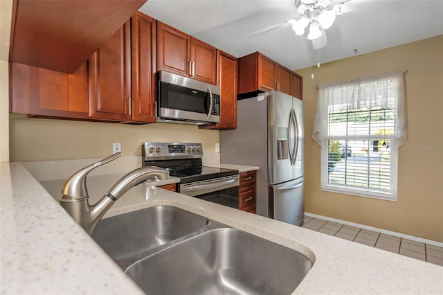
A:
{"label": "white textured ceiling around the fan light", "polygon": [[346,5],[353,11],[336,17],[320,50],[306,33],[297,36],[289,26],[251,37],[299,19],[294,0],[148,0],[140,11],[236,57],[260,51],[291,70],[350,57],[355,49],[368,53],[443,34],[443,0],[350,0]]}

